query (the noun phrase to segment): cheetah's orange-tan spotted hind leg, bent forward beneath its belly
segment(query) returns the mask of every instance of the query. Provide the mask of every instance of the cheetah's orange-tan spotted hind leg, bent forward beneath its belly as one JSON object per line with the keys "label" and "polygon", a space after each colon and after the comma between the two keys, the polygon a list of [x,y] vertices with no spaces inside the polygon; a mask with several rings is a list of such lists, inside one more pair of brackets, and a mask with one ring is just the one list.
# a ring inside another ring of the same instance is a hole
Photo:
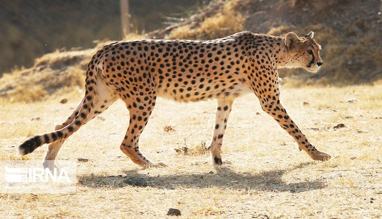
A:
{"label": "cheetah's orange-tan spotted hind leg, bent forward beneath its belly", "polygon": [[129,127],[126,131],[125,138],[122,141],[120,149],[134,163],[145,167],[167,167],[167,163],[153,163],[147,159],[139,150],[139,137],[145,128],[151,112],[155,106],[155,96],[146,96],[140,102],[125,101],[129,109]]}

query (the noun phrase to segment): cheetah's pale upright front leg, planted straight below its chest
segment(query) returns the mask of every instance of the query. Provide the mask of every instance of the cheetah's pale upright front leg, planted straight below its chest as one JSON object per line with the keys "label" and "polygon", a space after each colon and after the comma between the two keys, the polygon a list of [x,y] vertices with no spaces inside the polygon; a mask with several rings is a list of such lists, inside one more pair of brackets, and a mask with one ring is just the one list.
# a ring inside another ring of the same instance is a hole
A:
{"label": "cheetah's pale upright front leg, planted straight below its chest", "polygon": [[213,127],[213,137],[208,150],[211,154],[212,164],[222,165],[222,156],[220,154],[223,135],[226,130],[228,117],[231,113],[233,100],[217,99],[217,110],[215,118],[215,126]]}

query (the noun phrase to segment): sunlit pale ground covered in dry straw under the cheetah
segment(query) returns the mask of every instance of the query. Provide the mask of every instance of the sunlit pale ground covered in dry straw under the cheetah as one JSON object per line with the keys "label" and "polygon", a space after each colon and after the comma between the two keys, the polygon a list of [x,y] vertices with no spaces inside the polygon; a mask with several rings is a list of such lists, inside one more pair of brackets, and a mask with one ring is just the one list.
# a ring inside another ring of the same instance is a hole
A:
{"label": "sunlit pale ground covered in dry straw under the cheetah", "polygon": [[[80,99],[0,103],[0,159],[17,159],[15,146],[52,130]],[[169,167],[143,169],[119,150],[128,112],[118,101],[72,135],[59,154],[77,162],[75,193],[0,194],[0,217],[175,217],[166,216],[169,208],[178,208],[180,218],[382,217],[382,85],[284,88],[281,99],[331,160],[313,161],[299,152],[255,96],[247,95],[235,101],[225,134],[223,159],[232,164],[213,167],[202,146],[212,135],[215,101],[159,99],[140,145],[147,157]],[[340,123],[345,127],[333,128]],[[187,154],[175,151],[183,147]],[[26,159],[41,160],[45,150]]]}

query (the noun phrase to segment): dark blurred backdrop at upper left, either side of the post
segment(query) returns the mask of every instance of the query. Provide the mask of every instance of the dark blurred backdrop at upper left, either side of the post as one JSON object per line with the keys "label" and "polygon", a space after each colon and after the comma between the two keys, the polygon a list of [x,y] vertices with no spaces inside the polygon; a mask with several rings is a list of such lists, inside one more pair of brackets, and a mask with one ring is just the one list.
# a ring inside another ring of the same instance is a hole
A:
{"label": "dark blurred backdrop at upper left, either side of the post", "polygon": [[[207,1],[208,2],[208,1]],[[120,1],[0,0],[0,75],[57,48],[92,48],[94,40],[122,37]],[[132,30],[164,28],[195,13],[202,0],[130,0]]]}

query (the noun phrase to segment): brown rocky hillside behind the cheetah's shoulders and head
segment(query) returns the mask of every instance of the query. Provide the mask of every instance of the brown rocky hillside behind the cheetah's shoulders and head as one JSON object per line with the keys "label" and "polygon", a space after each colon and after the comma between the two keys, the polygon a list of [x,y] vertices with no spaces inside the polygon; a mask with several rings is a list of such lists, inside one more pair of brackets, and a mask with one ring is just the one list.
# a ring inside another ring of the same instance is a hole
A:
{"label": "brown rocky hillside behind the cheetah's shoulders and head", "polygon": [[[203,13],[151,32],[149,37],[211,39],[238,29],[276,36],[288,32],[301,36],[314,31],[323,48],[324,65],[320,73],[312,75],[293,69],[282,70],[282,76],[292,76],[304,84],[371,83],[382,78],[381,12],[382,2],[375,0],[213,2]],[[227,20],[219,22],[221,16]],[[211,25],[204,29],[206,22]]]}

